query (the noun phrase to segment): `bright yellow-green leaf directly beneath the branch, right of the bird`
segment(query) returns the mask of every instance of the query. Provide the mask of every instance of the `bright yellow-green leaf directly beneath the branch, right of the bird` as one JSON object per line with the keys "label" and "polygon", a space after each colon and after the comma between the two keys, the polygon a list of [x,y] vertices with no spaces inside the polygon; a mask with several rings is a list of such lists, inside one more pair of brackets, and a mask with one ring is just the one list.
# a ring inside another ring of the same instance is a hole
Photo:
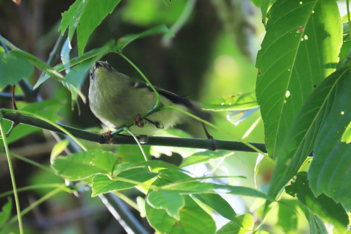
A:
{"label": "bright yellow-green leaf directly beneath the branch, right of the bird", "polygon": [[229,151],[203,151],[203,152],[196,152],[193,155],[188,156],[187,158],[183,159],[183,162],[180,164],[179,167],[187,167],[190,165],[195,165],[198,163],[208,162],[210,160],[216,160],[223,157],[227,157],[233,155],[234,152]]}

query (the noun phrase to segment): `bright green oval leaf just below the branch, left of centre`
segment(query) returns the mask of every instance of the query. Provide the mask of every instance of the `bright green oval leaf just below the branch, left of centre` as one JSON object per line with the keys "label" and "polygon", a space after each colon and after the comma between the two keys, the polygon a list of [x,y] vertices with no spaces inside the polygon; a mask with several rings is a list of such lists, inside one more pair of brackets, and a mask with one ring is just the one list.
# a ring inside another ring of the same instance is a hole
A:
{"label": "bright green oval leaf just below the branch, left of centre", "polygon": [[92,149],[55,158],[52,168],[69,180],[82,180],[92,175],[112,175],[118,165],[118,156],[101,149]]}

